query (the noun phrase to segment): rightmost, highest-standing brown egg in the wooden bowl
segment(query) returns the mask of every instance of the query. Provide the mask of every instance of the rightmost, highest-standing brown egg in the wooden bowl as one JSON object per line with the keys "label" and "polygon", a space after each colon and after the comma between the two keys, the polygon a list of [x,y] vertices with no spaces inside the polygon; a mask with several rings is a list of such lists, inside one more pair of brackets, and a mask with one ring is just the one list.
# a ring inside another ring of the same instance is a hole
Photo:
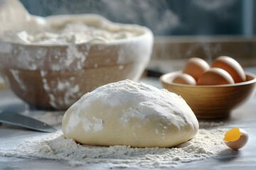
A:
{"label": "rightmost, highest-standing brown egg in the wooden bowl", "polygon": [[224,69],[234,79],[235,83],[246,80],[245,72],[241,65],[231,57],[220,56],[213,61],[212,67]]}

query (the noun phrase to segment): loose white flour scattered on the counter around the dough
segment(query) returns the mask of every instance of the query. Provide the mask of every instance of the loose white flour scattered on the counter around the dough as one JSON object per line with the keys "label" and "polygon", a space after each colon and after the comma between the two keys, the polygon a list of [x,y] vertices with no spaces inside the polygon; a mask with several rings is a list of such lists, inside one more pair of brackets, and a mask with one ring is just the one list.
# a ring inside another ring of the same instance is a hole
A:
{"label": "loose white flour scattered on the counter around the dough", "polygon": [[71,166],[102,164],[109,167],[168,167],[181,162],[193,162],[217,157],[225,149],[226,129],[200,129],[196,137],[171,148],[133,148],[129,146],[88,146],[65,139],[62,132],[32,137],[18,142],[11,149],[0,148],[0,156],[21,158],[59,159]]}

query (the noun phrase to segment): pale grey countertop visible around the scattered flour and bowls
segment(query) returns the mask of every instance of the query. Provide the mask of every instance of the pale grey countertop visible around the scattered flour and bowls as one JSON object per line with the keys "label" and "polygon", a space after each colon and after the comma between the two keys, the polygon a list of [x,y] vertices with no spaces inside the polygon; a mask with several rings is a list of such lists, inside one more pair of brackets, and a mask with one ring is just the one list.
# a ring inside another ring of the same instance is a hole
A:
{"label": "pale grey countertop visible around the scattered flour and bowls", "polygon": [[[256,68],[247,68],[246,71],[256,74]],[[140,81],[161,88],[161,84],[156,78],[144,77]],[[9,89],[0,90],[0,108],[6,105],[19,106],[19,109],[28,109],[23,101],[14,96]],[[22,107],[21,107],[22,106]],[[14,108],[15,109],[15,108]],[[54,125],[60,129],[60,121],[63,112],[51,112],[54,114],[48,117],[43,116],[45,111],[38,111],[37,118],[44,119],[46,123]],[[29,115],[30,113],[28,113]],[[49,114],[49,112],[47,113]],[[40,117],[41,116],[41,117]],[[54,120],[54,121],[53,121]],[[230,118],[221,120],[199,120],[200,122],[220,123],[223,122],[225,128],[242,128],[249,134],[247,145],[240,150],[232,150],[227,147],[219,152],[220,157],[210,157],[201,161],[180,163],[175,166],[163,169],[256,169],[256,95],[250,98],[239,108],[236,108],[230,115]],[[24,137],[33,137],[42,135],[42,132],[26,130],[13,125],[3,124],[0,126],[0,147],[10,147],[11,143]],[[9,143],[8,146],[6,142]],[[22,159],[16,157],[0,157],[0,169],[110,169],[100,164],[86,164],[84,166],[71,167],[67,162],[51,159]],[[118,168],[111,168],[118,169]],[[139,169],[146,169],[140,167]],[[156,167],[156,169],[159,169]]]}

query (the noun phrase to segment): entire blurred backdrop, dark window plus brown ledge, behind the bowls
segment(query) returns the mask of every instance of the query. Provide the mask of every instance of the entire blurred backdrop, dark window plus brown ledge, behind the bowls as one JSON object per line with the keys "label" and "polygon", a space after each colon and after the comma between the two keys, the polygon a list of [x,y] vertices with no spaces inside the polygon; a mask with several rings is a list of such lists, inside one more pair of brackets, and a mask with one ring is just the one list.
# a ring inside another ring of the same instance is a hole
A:
{"label": "entire blurred backdrop, dark window plus brown ledge, behind the bowls", "polygon": [[162,69],[161,72],[178,69],[189,57],[201,57],[210,63],[215,57],[227,55],[243,67],[256,65],[254,0],[21,2],[31,14],[38,16],[97,13],[113,22],[146,26],[155,36],[149,67]]}

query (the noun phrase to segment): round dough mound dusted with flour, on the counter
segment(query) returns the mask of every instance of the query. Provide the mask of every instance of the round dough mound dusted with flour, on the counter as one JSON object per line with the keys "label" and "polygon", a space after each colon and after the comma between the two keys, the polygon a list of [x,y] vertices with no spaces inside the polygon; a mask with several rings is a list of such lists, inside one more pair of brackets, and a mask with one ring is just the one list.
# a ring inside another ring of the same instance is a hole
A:
{"label": "round dough mound dusted with flour, on the counter", "polygon": [[124,80],[82,96],[63,116],[62,130],[85,145],[173,147],[196,135],[198,120],[181,96]]}

